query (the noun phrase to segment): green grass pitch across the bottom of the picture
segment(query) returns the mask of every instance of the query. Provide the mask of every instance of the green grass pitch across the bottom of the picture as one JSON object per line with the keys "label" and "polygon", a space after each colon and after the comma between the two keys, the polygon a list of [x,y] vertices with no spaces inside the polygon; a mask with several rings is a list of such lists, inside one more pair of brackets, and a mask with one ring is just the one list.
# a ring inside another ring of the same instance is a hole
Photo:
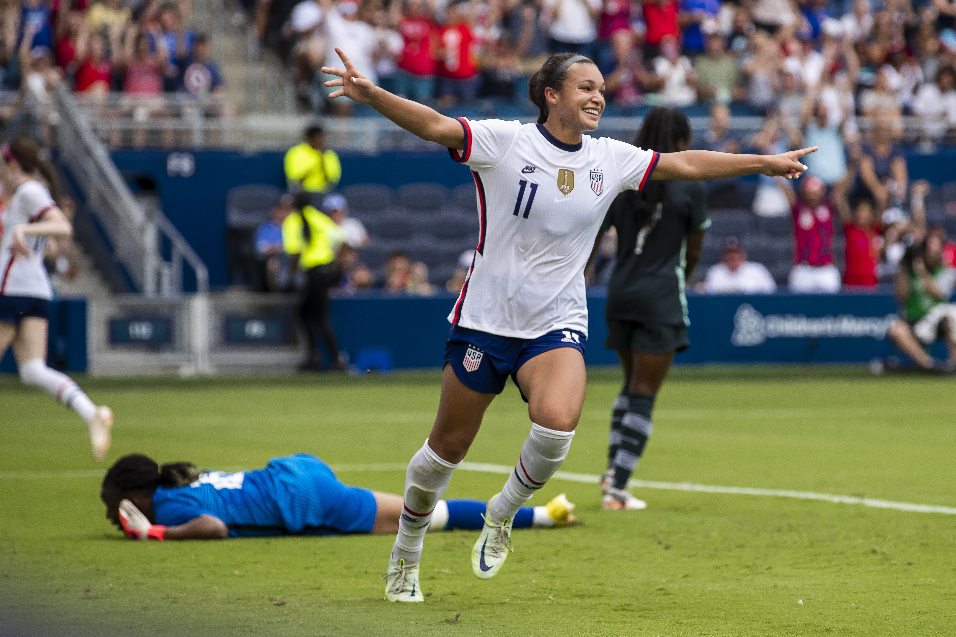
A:
{"label": "green grass pitch across the bottom of the picture", "polygon": [[[296,452],[402,463],[438,403],[431,372],[81,384],[117,415],[106,466],[131,452],[209,468]],[[591,372],[563,470],[603,470],[618,387],[617,372]],[[678,371],[635,477],[956,506],[953,387],[856,370]],[[467,459],[513,463],[528,428],[510,385]],[[0,440],[0,597],[59,634],[956,634],[952,515],[652,489],[637,490],[645,511],[603,512],[596,486],[553,479],[532,503],[567,492],[581,525],[515,531],[490,582],[470,572],[476,532],[429,534],[431,596],[399,606],[381,599],[390,537],[123,540],[103,519],[89,474],[105,466],[75,414],[15,377],[0,379]],[[339,476],[401,493],[404,472]],[[486,499],[505,478],[462,471],[446,496]]]}

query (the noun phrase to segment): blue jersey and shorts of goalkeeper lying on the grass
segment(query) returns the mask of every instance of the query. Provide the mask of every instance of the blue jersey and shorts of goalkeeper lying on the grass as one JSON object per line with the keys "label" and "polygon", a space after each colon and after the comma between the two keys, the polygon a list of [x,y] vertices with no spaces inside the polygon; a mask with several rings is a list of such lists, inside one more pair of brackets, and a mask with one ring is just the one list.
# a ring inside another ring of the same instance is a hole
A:
{"label": "blue jersey and shorts of goalkeeper lying on the grass", "polygon": [[377,509],[371,491],[342,484],[309,454],[275,457],[254,471],[207,471],[192,484],[153,494],[157,524],[205,514],[223,520],[231,537],[370,533]]}

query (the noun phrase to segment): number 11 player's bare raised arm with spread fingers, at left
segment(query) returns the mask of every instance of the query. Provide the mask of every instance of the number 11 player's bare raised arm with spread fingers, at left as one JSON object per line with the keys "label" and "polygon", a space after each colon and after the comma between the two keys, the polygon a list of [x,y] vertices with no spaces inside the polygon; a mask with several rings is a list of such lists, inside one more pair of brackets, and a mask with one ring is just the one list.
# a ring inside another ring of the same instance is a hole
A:
{"label": "number 11 player's bare raised arm with spread fingers, at left", "polygon": [[465,129],[456,119],[445,117],[424,104],[392,95],[356,71],[348,55],[338,47],[336,53],[345,68],[322,67],[322,73],[338,76],[338,79],[325,83],[328,87],[338,87],[329,97],[346,96],[360,104],[368,104],[413,135],[448,148],[465,150]]}

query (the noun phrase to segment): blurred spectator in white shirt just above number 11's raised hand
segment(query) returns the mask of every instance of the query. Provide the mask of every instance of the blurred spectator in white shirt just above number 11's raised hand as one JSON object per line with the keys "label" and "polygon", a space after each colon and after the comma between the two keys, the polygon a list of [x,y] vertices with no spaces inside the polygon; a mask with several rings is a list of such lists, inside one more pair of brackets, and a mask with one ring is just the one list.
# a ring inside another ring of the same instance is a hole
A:
{"label": "blurred spectator in white shirt just above number 11's raised hand", "polygon": [[[379,52],[379,40],[372,26],[359,19],[359,4],[346,0],[334,4],[332,0],[319,0],[325,13],[325,32],[329,49],[325,53],[325,65],[341,68],[342,61],[336,53],[336,47],[346,52],[352,64],[360,74],[368,77],[373,84],[379,84],[379,75],[375,71],[375,58]],[[335,75],[316,74],[316,82],[336,79]],[[337,91],[337,87],[322,84],[325,96]],[[352,100],[337,97],[332,100],[332,112],[339,117],[348,117],[352,113]]]}

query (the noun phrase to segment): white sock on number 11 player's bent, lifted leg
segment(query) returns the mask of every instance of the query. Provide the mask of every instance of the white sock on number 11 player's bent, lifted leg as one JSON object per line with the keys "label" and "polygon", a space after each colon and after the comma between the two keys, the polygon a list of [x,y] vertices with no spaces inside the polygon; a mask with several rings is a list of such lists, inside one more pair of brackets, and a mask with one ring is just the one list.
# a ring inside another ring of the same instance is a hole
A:
{"label": "white sock on number 11 player's bent, lifted leg", "polygon": [[531,499],[564,462],[573,437],[574,432],[555,432],[532,423],[532,431],[521,447],[514,471],[489,508],[489,519],[499,524],[507,518],[514,520],[521,505]]}

